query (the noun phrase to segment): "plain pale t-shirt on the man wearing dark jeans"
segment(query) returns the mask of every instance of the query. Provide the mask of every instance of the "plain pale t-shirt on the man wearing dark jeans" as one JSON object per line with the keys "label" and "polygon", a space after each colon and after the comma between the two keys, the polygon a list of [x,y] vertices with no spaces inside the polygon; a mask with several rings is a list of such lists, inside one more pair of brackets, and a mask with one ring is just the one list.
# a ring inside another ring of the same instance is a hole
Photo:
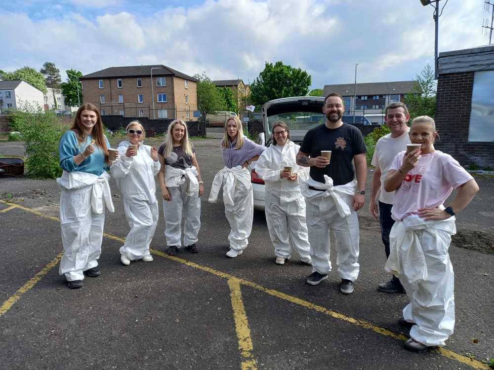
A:
{"label": "plain pale t-shirt on the man wearing dark jeans", "polygon": [[377,140],[374,148],[374,155],[372,156],[372,166],[379,167],[381,170],[381,189],[379,191],[379,202],[393,204],[394,191],[387,192],[384,190],[384,180],[388,176],[389,167],[393,163],[393,159],[397,153],[407,148],[407,144],[410,144],[410,135],[408,134],[410,128],[407,128],[407,132],[397,138],[392,138],[391,134],[387,134]]}

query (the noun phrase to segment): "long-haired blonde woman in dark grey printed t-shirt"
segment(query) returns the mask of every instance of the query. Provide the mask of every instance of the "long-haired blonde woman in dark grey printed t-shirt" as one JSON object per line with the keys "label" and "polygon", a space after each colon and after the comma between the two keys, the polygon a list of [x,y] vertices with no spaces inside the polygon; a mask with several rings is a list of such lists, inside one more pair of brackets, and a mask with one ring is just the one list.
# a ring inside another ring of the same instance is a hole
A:
{"label": "long-haired blonde woman in dark grey printed t-shirt", "polygon": [[204,186],[187,125],[175,119],[168,126],[165,143],[158,149],[161,170],[158,180],[163,195],[167,254],[175,256],[182,243],[182,212],[185,218],[183,242],[190,253],[198,253],[201,227],[201,199]]}

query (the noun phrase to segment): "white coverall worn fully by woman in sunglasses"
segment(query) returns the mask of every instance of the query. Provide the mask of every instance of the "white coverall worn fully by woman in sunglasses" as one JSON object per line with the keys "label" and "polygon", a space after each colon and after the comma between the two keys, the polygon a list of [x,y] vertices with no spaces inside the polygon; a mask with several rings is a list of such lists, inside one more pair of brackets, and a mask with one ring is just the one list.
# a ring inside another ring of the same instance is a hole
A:
{"label": "white coverall worn fully by woman in sunglasses", "polygon": [[137,155],[125,156],[130,142],[119,145],[119,160],[110,168],[124,197],[124,211],[130,231],[120,253],[130,260],[149,255],[149,245],[158,224],[155,176],[161,164],[151,158],[151,147],[139,145]]}

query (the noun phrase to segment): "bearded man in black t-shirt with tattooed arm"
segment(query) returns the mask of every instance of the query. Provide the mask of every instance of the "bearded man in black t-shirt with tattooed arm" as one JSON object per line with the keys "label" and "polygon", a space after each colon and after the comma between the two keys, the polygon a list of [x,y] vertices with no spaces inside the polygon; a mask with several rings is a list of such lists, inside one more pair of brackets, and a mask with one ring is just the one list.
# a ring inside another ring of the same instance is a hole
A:
{"label": "bearded man in black t-shirt with tattooed arm", "polygon": [[[328,278],[331,271],[329,230],[332,228],[340,291],[350,294],[360,271],[357,211],[365,203],[367,148],[360,130],[341,120],[344,112],[341,95],[329,94],[323,107],[326,123],[307,132],[297,153],[297,164],[310,167],[309,180],[300,185],[307,207],[313,271],[307,283],[317,285]],[[322,150],[331,151],[330,161],[321,155]]]}

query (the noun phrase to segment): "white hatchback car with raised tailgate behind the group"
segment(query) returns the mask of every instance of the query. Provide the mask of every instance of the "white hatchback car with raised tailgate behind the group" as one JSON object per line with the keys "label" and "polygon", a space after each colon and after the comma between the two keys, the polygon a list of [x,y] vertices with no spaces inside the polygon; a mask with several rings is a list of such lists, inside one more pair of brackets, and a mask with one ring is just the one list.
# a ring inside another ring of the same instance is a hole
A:
{"label": "white hatchback car with raised tailgate behind the group", "polygon": [[[274,122],[284,121],[290,130],[290,140],[300,145],[309,129],[326,122],[323,114],[324,99],[322,96],[297,96],[264,103],[261,108],[264,132],[257,136],[255,143],[269,147]],[[264,211],[264,181],[255,172],[255,162],[249,169],[254,209]]]}

